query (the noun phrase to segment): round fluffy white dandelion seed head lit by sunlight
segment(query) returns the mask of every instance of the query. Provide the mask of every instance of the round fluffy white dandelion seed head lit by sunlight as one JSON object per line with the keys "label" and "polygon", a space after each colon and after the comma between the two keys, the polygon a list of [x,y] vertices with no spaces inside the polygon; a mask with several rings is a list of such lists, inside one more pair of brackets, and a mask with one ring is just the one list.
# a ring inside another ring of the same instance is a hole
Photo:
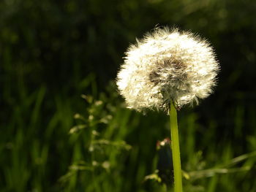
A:
{"label": "round fluffy white dandelion seed head lit by sunlight", "polygon": [[178,29],[156,28],[130,45],[117,75],[129,108],[168,110],[198,102],[212,93],[219,64],[212,47]]}

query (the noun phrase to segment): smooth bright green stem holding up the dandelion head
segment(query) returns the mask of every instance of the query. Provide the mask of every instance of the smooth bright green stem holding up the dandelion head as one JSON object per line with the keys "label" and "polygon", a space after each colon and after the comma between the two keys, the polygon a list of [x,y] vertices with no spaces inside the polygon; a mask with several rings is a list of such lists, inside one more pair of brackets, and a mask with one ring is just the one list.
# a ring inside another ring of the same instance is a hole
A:
{"label": "smooth bright green stem holding up the dandelion head", "polygon": [[173,153],[174,192],[182,192],[181,155],[178,142],[177,112],[170,102],[170,138]]}

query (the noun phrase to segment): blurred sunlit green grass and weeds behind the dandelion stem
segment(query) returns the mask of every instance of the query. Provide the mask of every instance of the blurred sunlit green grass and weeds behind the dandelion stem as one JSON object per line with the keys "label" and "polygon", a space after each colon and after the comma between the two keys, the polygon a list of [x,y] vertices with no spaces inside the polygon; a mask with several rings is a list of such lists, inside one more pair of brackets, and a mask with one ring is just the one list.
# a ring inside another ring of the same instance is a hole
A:
{"label": "blurred sunlit green grass and weeds behind the dandelion stem", "polygon": [[[145,180],[157,169],[157,140],[170,135],[167,115],[127,110],[113,82],[99,92],[93,75],[79,86],[88,94],[20,91],[1,123],[1,191],[172,191],[172,178]],[[230,109],[232,128],[178,112],[184,191],[256,191],[256,133],[244,131],[245,113],[255,126],[255,110],[241,104]]]}

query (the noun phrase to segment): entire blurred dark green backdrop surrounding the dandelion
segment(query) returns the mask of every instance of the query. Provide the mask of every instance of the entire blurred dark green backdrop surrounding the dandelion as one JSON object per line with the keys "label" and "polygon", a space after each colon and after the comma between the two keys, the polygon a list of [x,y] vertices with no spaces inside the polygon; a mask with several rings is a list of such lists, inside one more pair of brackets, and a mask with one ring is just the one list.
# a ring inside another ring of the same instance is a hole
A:
{"label": "entire blurred dark green backdrop surrounding the dandelion", "polygon": [[167,115],[125,109],[113,81],[166,25],[208,39],[222,69],[178,112],[185,191],[256,191],[255,18],[249,0],[1,0],[0,191],[171,191]]}

